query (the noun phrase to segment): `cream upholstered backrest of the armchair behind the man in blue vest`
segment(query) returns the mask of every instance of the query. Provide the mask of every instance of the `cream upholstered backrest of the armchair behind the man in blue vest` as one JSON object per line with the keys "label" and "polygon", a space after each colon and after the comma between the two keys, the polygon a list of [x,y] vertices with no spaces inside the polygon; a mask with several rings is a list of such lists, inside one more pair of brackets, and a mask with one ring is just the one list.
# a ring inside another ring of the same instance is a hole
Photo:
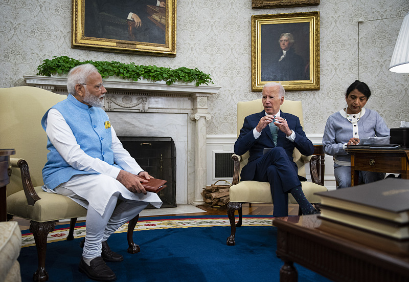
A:
{"label": "cream upholstered backrest of the armchair behind the man in blue vest", "polygon": [[[30,166],[33,186],[42,186],[41,169],[47,162],[47,134],[41,118],[51,106],[66,98],[31,86],[0,89],[0,148],[14,148],[15,159],[25,159]],[[18,169],[13,169],[7,195],[21,190]]]}

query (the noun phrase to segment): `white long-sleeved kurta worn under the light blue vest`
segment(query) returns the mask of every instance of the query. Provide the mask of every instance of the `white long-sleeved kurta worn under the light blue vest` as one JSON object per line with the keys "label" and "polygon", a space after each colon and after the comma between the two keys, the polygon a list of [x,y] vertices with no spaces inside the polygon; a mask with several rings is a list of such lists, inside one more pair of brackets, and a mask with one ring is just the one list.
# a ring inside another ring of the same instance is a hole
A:
{"label": "white long-sleeved kurta worn under the light blue vest", "polygon": [[[49,111],[45,125],[47,127],[47,136],[51,143],[67,163],[74,165],[76,168],[80,167],[81,170],[96,174],[74,176],[69,181],[57,186],[54,190],[48,189],[44,185],[44,190],[69,196],[73,201],[85,208],[88,208],[89,204],[101,215],[104,213],[110,197],[115,192],[120,192],[120,198],[125,201],[143,201],[151,203],[156,208],[161,207],[162,201],[156,193],[147,192],[145,195],[129,191],[116,180],[120,171],[118,167],[85,154],[78,145],[70,126],[65,122],[65,119],[58,110],[51,109]],[[124,149],[112,126],[111,134],[114,162],[124,170],[135,175],[143,171],[135,159]]]}

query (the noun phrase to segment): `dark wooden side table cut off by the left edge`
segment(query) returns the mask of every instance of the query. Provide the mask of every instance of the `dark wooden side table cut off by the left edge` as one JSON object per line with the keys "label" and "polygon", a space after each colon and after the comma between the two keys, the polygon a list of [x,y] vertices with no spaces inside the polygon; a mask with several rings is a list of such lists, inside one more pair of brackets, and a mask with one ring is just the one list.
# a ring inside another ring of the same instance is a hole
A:
{"label": "dark wooden side table cut off by the left edge", "polygon": [[10,183],[9,161],[14,149],[0,149],[0,221],[7,221],[6,185]]}

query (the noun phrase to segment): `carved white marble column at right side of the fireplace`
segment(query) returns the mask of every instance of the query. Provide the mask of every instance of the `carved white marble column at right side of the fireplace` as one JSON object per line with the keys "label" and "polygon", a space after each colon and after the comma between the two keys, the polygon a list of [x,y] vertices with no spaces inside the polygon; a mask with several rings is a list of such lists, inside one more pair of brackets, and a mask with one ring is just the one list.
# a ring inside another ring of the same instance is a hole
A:
{"label": "carved white marble column at right side of the fireplace", "polygon": [[209,94],[196,93],[193,98],[193,114],[190,119],[196,121],[195,135],[195,198],[193,205],[204,204],[200,192],[206,186],[206,120],[210,119],[208,113]]}

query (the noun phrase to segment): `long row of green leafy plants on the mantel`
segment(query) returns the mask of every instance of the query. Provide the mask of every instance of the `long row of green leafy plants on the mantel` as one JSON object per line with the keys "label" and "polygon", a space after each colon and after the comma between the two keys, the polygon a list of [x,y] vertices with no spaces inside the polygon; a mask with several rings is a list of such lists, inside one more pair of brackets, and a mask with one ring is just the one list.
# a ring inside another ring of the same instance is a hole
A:
{"label": "long row of green leafy plants on the mantel", "polygon": [[210,74],[203,73],[195,69],[180,67],[177,69],[170,69],[156,66],[138,66],[135,63],[122,63],[117,61],[79,61],[67,56],[54,56],[53,59],[42,60],[42,64],[38,66],[37,75],[51,76],[51,74],[67,74],[72,68],[84,64],[93,64],[103,78],[109,76],[118,76],[124,79],[138,81],[138,79],[145,78],[156,81],[166,81],[170,85],[176,81],[193,82],[196,81],[196,86],[200,84],[209,85],[213,83]]}

